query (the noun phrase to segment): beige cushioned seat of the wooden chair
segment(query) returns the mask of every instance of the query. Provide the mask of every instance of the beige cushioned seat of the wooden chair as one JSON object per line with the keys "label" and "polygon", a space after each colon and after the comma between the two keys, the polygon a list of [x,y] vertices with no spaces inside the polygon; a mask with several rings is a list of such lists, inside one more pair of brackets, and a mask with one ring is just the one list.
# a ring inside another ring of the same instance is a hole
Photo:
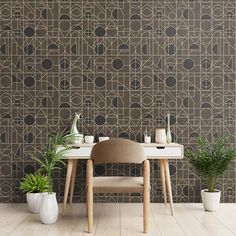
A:
{"label": "beige cushioned seat of the wooden chair", "polygon": [[94,177],[93,191],[95,193],[142,193],[143,177]]}

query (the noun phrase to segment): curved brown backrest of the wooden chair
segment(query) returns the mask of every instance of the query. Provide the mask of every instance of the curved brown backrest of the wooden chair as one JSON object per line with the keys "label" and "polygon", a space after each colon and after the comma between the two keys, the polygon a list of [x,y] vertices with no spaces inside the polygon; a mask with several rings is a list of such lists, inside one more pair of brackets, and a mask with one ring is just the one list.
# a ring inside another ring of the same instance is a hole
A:
{"label": "curved brown backrest of the wooden chair", "polygon": [[94,163],[142,163],[146,160],[143,147],[127,139],[102,141],[93,146],[91,159]]}

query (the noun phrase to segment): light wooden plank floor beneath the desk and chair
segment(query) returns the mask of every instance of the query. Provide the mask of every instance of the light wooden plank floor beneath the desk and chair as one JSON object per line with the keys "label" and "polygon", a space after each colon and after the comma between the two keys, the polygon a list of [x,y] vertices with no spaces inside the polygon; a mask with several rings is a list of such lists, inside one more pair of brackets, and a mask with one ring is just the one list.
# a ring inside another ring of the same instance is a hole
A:
{"label": "light wooden plank floor beneath the desk and chair", "polygon": [[[94,206],[94,234],[87,233],[85,204],[74,204],[56,224],[43,225],[26,204],[0,204],[0,236],[126,236],[126,235],[236,235],[236,204],[221,204],[217,212],[203,211],[202,204],[174,204],[175,216],[164,204],[151,204],[149,233],[142,233],[142,204]],[[61,205],[60,205],[61,209]]]}

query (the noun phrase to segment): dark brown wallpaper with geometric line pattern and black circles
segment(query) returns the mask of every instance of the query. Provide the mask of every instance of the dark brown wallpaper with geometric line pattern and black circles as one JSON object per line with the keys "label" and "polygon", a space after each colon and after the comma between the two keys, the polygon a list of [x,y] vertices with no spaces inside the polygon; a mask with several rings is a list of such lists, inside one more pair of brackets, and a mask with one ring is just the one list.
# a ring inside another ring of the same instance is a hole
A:
{"label": "dark brown wallpaper with geometric line pattern and black circles", "polygon": [[[35,170],[29,155],[52,131],[82,113],[84,134],[141,141],[171,113],[174,140],[230,134],[235,145],[234,0],[0,0],[0,201],[20,202],[19,180]],[[152,161],[152,201],[163,201]],[[139,174],[137,166],[97,166]],[[171,161],[174,201],[200,201],[201,181],[185,160]],[[59,200],[65,173],[55,175]],[[232,168],[219,180],[223,201],[236,201]],[[76,201],[85,197],[85,162]],[[139,195],[100,195],[139,201]]]}

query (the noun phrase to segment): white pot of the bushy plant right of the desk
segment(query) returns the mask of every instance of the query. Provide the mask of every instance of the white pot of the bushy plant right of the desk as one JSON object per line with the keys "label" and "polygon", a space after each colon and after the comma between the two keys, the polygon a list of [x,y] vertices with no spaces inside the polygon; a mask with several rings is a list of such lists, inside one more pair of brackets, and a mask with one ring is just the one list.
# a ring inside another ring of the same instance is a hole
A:
{"label": "white pot of the bushy plant right of the desk", "polygon": [[216,211],[220,206],[221,191],[215,189],[215,192],[208,192],[207,189],[201,191],[202,202],[205,211]]}

